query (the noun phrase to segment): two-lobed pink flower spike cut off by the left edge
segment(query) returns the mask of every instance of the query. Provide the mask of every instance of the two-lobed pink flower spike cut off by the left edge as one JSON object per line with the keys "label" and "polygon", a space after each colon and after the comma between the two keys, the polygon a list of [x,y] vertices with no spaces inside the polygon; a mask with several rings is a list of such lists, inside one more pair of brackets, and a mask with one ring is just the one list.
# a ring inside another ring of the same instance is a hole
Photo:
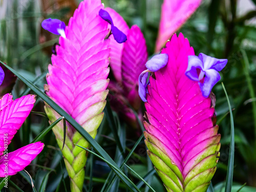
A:
{"label": "two-lobed pink flower spike cut off by the left edge", "polygon": [[0,177],[15,175],[28,166],[42,151],[44,143],[30,143],[14,152],[8,151],[14,135],[30,114],[35,95],[26,95],[13,101],[11,94],[0,98]]}

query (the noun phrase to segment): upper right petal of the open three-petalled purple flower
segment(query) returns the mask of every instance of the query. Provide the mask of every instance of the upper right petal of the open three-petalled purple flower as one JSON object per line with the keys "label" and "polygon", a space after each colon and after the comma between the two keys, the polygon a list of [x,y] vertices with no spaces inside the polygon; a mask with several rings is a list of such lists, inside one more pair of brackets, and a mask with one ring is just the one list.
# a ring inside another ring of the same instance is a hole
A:
{"label": "upper right petal of the open three-petalled purple flower", "polygon": [[198,57],[203,61],[205,70],[215,69],[221,71],[227,64],[227,59],[217,59],[203,53],[200,53]]}

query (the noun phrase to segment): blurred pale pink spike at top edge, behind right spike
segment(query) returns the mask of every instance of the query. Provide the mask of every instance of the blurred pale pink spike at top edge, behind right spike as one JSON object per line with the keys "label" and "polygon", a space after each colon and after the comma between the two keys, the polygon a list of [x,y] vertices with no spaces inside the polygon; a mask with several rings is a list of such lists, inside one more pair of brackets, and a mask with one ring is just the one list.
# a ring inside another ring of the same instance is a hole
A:
{"label": "blurred pale pink spike at top edge, behind right spike", "polygon": [[162,4],[161,18],[156,52],[159,52],[166,41],[186,22],[197,10],[202,0],[164,0]]}

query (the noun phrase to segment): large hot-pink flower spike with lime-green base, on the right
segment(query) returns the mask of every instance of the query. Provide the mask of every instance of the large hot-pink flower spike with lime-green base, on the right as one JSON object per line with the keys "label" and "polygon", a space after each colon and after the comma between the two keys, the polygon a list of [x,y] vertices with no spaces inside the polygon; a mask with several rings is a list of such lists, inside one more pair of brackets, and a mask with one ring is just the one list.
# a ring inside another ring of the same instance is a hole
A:
{"label": "large hot-pink flower spike with lime-green base, on the right", "polygon": [[180,33],[167,42],[165,67],[150,76],[145,108],[145,143],[167,191],[205,192],[216,171],[220,134],[214,98],[185,75],[194,49]]}

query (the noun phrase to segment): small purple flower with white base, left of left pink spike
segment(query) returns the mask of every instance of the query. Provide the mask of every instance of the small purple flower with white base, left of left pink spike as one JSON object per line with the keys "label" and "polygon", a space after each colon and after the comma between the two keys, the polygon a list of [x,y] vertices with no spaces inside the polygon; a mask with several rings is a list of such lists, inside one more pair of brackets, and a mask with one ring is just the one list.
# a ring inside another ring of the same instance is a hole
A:
{"label": "small purple flower with white base, left of left pink spike", "polygon": [[50,31],[55,35],[61,35],[62,37],[66,38],[65,28],[66,25],[64,22],[61,22],[59,19],[52,19],[48,18],[42,21],[42,28]]}

